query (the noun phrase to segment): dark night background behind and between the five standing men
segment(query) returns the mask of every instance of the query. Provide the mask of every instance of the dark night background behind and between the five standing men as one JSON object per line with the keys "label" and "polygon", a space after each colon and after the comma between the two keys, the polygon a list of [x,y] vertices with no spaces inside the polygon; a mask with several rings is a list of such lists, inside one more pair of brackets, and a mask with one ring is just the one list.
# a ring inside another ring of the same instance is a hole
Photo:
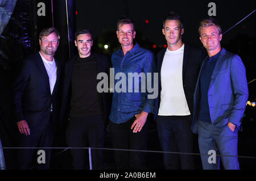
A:
{"label": "dark night background behind and between the five standing men", "polygon": [[[46,4],[46,16],[36,14],[37,4]],[[53,3],[52,3],[53,2]],[[234,24],[255,10],[254,0],[245,1],[85,1],[77,0],[18,0],[5,31],[0,36],[0,136],[3,147],[15,146],[15,120],[12,113],[11,84],[20,68],[20,60],[39,49],[38,36],[43,28],[52,24],[60,31],[60,45],[56,57],[67,61],[77,53],[74,46],[73,33],[78,28],[89,28],[93,32],[93,50],[105,53],[110,58],[114,50],[119,48],[116,37],[116,22],[126,15],[135,22],[137,41],[142,47],[156,53],[166,44],[162,35],[162,19],[170,11],[175,11],[183,18],[185,33],[183,41],[201,47],[198,35],[200,20],[208,18],[208,3],[216,3],[217,18],[225,32]],[[52,22],[53,6],[53,22]],[[68,15],[67,15],[68,12]],[[77,14],[76,14],[77,12]],[[67,21],[68,17],[68,21]],[[146,23],[146,20],[149,23]],[[67,26],[67,22],[69,27]],[[69,31],[69,34],[68,34]],[[68,36],[69,35],[69,36]],[[222,47],[237,53],[245,64],[247,82],[255,79],[255,12],[222,37]],[[104,49],[107,44],[109,48]],[[156,48],[153,48],[155,45]],[[255,102],[255,81],[249,85],[249,100]],[[255,169],[255,107],[246,106],[242,122],[243,131],[239,133],[238,155],[254,158],[240,158],[241,169]],[[160,150],[154,121],[150,120],[150,140],[148,150]],[[106,148],[111,148],[109,138]],[[195,148],[197,149],[197,148]],[[15,150],[5,149],[7,169],[15,168]],[[68,150],[53,157],[53,169],[71,169]],[[198,150],[196,153],[199,153]],[[113,169],[111,150],[105,150],[106,169]],[[200,158],[195,156],[197,169],[201,169]],[[163,169],[162,154],[148,153],[148,167]]]}

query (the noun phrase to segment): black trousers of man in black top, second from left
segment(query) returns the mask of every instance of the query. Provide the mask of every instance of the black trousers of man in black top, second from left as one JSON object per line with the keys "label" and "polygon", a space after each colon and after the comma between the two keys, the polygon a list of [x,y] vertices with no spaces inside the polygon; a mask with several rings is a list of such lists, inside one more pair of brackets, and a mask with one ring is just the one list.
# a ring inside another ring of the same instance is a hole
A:
{"label": "black trousers of man in black top, second from left", "polygon": [[[66,132],[67,144],[74,148],[91,147],[92,169],[104,169],[105,125],[102,115],[70,117]],[[75,170],[89,169],[88,149],[71,149],[72,165]]]}

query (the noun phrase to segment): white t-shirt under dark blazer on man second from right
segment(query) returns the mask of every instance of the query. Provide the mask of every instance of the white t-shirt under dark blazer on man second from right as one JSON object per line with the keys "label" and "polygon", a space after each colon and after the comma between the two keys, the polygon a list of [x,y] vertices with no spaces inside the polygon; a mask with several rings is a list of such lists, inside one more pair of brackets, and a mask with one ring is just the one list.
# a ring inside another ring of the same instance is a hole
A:
{"label": "white t-shirt under dark blazer on man second from right", "polygon": [[184,44],[177,50],[166,49],[161,68],[159,116],[187,116],[188,103],[185,98],[182,80]]}

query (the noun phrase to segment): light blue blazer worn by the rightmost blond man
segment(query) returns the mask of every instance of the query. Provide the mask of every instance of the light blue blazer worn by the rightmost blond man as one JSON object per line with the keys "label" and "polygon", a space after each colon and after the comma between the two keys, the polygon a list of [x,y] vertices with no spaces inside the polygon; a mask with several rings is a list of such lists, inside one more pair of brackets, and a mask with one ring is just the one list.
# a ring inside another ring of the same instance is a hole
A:
{"label": "light blue blazer worn by the rightmost blond man", "polygon": [[[191,128],[192,132],[196,134],[198,133],[197,121],[200,110],[200,74],[204,63],[205,60],[201,66],[193,95],[194,107]],[[240,126],[247,98],[246,71],[241,58],[222,48],[210,77],[208,89],[208,104],[212,124],[221,128],[230,121],[241,130]]]}

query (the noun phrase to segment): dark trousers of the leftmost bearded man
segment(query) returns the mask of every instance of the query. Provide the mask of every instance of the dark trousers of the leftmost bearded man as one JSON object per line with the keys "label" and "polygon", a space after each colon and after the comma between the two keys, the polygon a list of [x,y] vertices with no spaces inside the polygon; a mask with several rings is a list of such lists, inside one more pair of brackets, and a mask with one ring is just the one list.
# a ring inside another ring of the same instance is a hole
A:
{"label": "dark trousers of the leftmost bearded man", "polygon": [[[24,149],[18,149],[18,169],[49,169],[51,160],[51,148],[55,138],[55,131],[52,124],[52,113],[50,116],[51,120],[48,121],[47,126],[43,127],[30,127],[30,135],[19,133],[18,146]],[[30,126],[30,125],[28,125]],[[42,148],[42,149],[31,149],[31,148]],[[42,152],[38,154],[38,150],[43,150],[45,153],[45,163],[43,161]],[[39,160],[39,162],[38,162]]]}

